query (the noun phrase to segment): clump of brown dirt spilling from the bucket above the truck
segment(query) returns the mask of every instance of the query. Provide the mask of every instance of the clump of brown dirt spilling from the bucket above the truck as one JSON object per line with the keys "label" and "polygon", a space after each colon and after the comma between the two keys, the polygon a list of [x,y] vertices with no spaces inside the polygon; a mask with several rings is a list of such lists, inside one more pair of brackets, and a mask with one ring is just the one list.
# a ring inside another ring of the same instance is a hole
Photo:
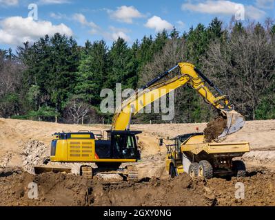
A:
{"label": "clump of brown dirt spilling from the bucket above the truck", "polygon": [[226,124],[227,121],[222,116],[218,116],[218,118],[209,122],[203,130],[205,142],[212,142],[212,140],[215,140],[219,135],[221,135]]}

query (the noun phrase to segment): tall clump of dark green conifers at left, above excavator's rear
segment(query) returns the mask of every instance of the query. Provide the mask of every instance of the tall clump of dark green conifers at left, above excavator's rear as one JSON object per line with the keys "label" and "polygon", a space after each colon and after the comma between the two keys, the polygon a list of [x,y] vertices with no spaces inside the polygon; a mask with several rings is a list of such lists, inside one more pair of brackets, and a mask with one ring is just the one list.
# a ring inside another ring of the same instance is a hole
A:
{"label": "tall clump of dark green conifers at left, above excavator's rear", "polygon": [[31,95],[36,88],[35,94],[39,94],[30,110],[36,111],[45,104],[61,112],[76,83],[80,55],[77,42],[54,34],[51,38],[46,35],[31,47],[28,43],[24,46],[19,47],[19,57],[28,66],[24,72],[23,90]]}

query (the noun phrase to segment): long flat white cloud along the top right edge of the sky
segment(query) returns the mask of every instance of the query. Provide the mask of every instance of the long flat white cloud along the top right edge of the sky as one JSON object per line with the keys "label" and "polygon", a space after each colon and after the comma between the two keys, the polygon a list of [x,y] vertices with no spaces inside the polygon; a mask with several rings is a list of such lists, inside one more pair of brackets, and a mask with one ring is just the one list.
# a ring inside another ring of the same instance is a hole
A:
{"label": "long flat white cloud along the top right edge of the sky", "polygon": [[206,14],[225,14],[233,16],[237,10],[245,8],[245,16],[249,19],[260,19],[265,16],[265,12],[252,5],[243,5],[233,1],[223,0],[207,0],[201,3],[183,3],[182,10],[190,10],[192,12],[200,12]]}

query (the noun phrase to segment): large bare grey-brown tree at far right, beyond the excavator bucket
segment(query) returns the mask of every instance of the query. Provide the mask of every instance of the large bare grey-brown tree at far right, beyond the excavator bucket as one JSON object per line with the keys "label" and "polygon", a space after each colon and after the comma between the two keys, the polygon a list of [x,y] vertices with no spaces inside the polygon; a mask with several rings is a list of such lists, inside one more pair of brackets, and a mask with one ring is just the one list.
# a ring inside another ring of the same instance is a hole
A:
{"label": "large bare grey-brown tree at far right, beyond the excavator bucket", "polygon": [[214,42],[204,70],[231,96],[238,111],[254,120],[258,104],[275,83],[275,42],[261,25],[234,32],[225,43]]}

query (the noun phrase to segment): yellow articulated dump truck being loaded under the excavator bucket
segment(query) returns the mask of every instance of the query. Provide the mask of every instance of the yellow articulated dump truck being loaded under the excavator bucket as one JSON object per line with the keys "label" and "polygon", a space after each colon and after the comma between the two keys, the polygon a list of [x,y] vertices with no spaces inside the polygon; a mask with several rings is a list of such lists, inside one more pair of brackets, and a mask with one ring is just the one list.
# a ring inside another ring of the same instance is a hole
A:
{"label": "yellow articulated dump truck being loaded under the excavator bucket", "polygon": [[163,138],[159,145],[165,145],[167,155],[165,169],[174,178],[181,173],[188,173],[192,178],[214,176],[245,177],[245,164],[234,157],[241,157],[249,152],[248,142],[205,142],[203,133],[187,133],[173,138]]}

